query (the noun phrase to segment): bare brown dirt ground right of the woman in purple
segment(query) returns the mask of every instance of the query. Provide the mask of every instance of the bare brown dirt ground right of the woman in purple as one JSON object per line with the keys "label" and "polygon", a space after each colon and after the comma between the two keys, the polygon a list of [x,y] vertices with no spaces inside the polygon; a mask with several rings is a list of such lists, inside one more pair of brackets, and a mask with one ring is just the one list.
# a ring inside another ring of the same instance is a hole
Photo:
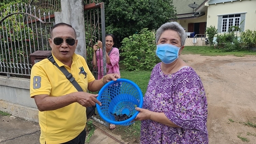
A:
{"label": "bare brown dirt ground right of the woman in purple", "polygon": [[[249,121],[256,124],[256,57],[187,54],[181,58],[194,68],[204,84],[209,144],[256,144],[256,127],[245,125]],[[124,134],[118,128],[111,132]],[[139,139],[133,138],[124,141],[139,143]]]}

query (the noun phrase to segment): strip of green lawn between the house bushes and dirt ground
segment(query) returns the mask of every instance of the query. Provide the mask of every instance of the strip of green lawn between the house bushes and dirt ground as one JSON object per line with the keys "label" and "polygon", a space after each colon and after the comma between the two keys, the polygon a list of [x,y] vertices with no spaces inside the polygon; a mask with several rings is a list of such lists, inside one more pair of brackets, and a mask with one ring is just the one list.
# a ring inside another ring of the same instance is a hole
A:
{"label": "strip of green lawn between the house bushes and dirt ground", "polygon": [[181,54],[200,54],[204,56],[225,56],[235,55],[237,57],[243,57],[245,55],[256,55],[256,52],[244,50],[239,52],[222,52],[219,49],[214,49],[209,46],[186,46]]}

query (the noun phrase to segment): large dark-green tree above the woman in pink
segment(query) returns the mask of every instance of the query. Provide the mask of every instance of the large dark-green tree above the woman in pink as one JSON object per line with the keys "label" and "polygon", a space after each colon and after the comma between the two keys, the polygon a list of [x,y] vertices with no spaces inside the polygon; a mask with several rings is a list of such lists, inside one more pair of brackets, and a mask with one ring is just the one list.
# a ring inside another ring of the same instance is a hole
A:
{"label": "large dark-green tree above the woman in pink", "polygon": [[172,0],[102,0],[105,4],[106,32],[119,41],[140,32],[143,28],[156,30],[175,19]]}

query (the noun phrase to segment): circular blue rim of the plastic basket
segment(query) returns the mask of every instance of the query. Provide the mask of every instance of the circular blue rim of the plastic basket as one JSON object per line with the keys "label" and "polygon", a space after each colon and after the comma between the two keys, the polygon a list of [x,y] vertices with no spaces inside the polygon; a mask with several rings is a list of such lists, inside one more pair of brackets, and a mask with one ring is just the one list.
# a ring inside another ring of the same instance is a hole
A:
{"label": "circular blue rim of the plastic basket", "polygon": [[[142,105],[143,105],[143,94],[142,94],[142,91],[140,90],[140,87],[139,87],[136,83],[134,83],[133,81],[128,80],[128,79],[125,79],[125,78],[119,78],[119,79],[117,79],[116,81],[111,80],[110,82],[108,82],[107,84],[105,84],[105,85],[100,89],[100,91],[99,91],[99,93],[98,93],[99,95],[98,95],[97,99],[100,101],[100,97],[101,97],[102,92],[103,92],[109,85],[112,85],[112,84],[118,83],[118,82],[130,83],[131,85],[133,85],[133,86],[137,89],[137,91],[138,91],[139,94],[140,94],[140,104],[139,104],[139,106],[137,106],[137,107],[142,108]],[[123,120],[123,121],[114,121],[114,120],[109,120],[108,118],[106,118],[106,117],[104,116],[104,114],[103,114],[103,113],[101,112],[101,110],[100,110],[100,105],[99,105],[99,104],[96,104],[96,109],[97,109],[97,112],[99,113],[100,117],[101,117],[103,120],[107,121],[108,123],[115,124],[115,125],[122,125],[122,124],[125,124],[125,123],[129,123],[130,121],[134,120],[134,119],[136,118],[136,116],[139,114],[139,111],[136,111],[135,114],[134,114],[132,117],[128,118],[127,120]]]}

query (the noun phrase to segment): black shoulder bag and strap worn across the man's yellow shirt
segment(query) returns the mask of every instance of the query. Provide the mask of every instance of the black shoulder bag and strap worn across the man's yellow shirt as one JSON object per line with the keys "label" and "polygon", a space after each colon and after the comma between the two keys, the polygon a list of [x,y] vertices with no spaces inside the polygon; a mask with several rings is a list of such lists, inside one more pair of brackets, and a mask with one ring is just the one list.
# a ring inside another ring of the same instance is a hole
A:
{"label": "black shoulder bag and strap worn across the man's yellow shirt", "polygon": [[[78,90],[78,92],[83,92],[82,87],[76,82],[75,78],[73,78],[72,74],[69,73],[69,71],[66,70],[66,68],[64,66],[59,67],[58,64],[55,62],[55,59],[52,57],[52,54],[50,54],[47,59],[49,59],[49,61],[52,62],[52,64],[54,64],[55,66],[57,66],[57,68],[59,68],[60,71],[62,71],[62,73],[66,76],[66,78],[72,83],[72,85],[76,88],[76,90]],[[86,116],[87,118],[90,118],[92,115],[96,115],[95,114],[95,107],[96,106],[92,106],[92,107],[86,107]]]}

